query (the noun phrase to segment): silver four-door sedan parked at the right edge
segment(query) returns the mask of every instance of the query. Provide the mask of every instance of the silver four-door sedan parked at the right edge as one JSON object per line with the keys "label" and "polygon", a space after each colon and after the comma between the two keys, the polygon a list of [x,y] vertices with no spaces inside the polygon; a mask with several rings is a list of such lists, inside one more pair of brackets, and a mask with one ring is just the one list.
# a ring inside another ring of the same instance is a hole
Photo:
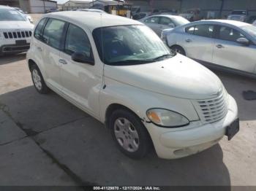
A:
{"label": "silver four-door sedan parked at the right edge", "polygon": [[167,45],[207,66],[256,77],[256,27],[235,20],[203,20],[169,31]]}

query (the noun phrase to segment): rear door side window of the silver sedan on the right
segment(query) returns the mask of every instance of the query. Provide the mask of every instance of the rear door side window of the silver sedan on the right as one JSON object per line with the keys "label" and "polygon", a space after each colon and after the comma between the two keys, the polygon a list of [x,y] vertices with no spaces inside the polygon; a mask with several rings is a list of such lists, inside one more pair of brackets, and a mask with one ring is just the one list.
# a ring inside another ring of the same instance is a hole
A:
{"label": "rear door side window of the silver sedan on the right", "polygon": [[212,37],[214,34],[214,26],[211,25],[199,25],[186,28],[188,34],[194,34],[197,36]]}

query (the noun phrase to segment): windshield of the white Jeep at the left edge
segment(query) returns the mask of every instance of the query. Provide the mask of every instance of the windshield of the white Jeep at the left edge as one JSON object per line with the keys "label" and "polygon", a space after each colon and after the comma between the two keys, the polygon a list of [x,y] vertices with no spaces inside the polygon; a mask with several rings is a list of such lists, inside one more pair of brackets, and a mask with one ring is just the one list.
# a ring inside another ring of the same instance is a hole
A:
{"label": "windshield of the white Jeep at the left edge", "polygon": [[23,21],[26,20],[20,12],[15,9],[0,9],[0,21]]}

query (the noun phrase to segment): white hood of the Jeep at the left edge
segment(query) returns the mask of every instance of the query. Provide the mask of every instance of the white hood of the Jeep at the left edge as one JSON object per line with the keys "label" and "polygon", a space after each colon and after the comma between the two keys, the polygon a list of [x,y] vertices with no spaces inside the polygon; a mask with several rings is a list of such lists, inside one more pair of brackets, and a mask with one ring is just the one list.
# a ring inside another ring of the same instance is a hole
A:
{"label": "white hood of the Jeep at the left edge", "polygon": [[1,29],[33,29],[34,25],[29,21],[0,21]]}

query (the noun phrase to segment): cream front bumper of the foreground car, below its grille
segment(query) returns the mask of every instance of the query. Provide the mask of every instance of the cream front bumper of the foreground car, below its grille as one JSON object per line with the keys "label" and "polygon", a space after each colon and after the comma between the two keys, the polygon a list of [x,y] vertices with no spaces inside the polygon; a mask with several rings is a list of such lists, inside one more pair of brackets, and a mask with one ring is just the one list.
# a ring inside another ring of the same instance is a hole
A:
{"label": "cream front bumper of the foreground car, below its grille", "polygon": [[157,155],[165,159],[186,157],[217,144],[225,136],[226,128],[238,117],[236,101],[229,95],[227,115],[217,122],[190,122],[184,128],[159,128],[146,123]]}

